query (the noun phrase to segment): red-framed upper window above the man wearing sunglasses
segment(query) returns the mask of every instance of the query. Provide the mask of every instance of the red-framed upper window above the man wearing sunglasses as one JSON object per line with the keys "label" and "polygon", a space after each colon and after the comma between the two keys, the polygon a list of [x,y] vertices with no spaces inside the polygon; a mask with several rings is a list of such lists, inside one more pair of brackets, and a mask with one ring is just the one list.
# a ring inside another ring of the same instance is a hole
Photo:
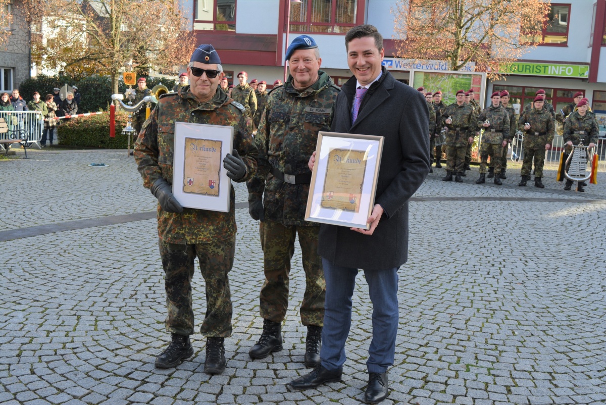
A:
{"label": "red-framed upper window above the man wearing sunglasses", "polygon": [[196,0],[195,4],[195,30],[236,30],[236,0]]}

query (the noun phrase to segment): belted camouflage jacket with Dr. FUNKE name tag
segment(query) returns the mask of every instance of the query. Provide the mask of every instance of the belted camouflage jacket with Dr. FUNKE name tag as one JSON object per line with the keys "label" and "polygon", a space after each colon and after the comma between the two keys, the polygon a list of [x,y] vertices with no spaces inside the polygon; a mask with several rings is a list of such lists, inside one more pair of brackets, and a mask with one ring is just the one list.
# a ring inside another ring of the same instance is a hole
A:
{"label": "belted camouflage jacket with Dr. FUNKE name tag", "polygon": [[282,173],[310,173],[307,162],[316,150],[319,131],[330,131],[335,102],[341,89],[327,73],[299,93],[292,76],[283,86],[269,92],[265,112],[257,129],[259,168],[247,182],[248,201],[261,200],[265,218],[287,226],[318,226],[304,220],[309,184],[288,184],[271,174],[271,167]]}

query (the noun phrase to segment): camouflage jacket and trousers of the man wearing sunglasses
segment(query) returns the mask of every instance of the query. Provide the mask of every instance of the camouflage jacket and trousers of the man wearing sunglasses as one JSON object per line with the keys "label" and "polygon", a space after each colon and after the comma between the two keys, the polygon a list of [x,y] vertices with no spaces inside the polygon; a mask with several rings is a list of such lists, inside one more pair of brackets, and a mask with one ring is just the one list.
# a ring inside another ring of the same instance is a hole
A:
{"label": "camouflage jacket and trousers of the man wearing sunglasses", "polygon": [[[169,184],[173,181],[173,142],[178,121],[233,127],[233,147],[246,166],[246,174],[237,181],[251,178],[256,170],[257,150],[246,130],[243,110],[219,91],[204,103],[198,101],[189,87],[179,93],[162,95],[135,144],[135,160],[144,187],[150,188],[159,178]],[[198,256],[207,299],[201,333],[208,337],[231,335],[232,307],[227,274],[233,264],[236,239],[233,186],[230,199],[229,212],[184,208],[182,213],[168,213],[158,204],[158,245],[165,272],[168,332],[193,333],[191,278],[194,259]]]}

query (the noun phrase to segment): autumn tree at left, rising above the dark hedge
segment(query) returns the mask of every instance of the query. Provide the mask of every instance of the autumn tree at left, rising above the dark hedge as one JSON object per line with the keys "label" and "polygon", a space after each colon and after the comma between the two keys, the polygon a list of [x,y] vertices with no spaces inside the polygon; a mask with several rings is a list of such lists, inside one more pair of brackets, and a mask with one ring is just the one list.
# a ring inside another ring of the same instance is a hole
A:
{"label": "autumn tree at left, rising above the dark hedge", "polygon": [[178,0],[44,2],[44,34],[32,40],[34,60],[72,75],[109,74],[118,92],[129,62],[176,73],[195,47]]}

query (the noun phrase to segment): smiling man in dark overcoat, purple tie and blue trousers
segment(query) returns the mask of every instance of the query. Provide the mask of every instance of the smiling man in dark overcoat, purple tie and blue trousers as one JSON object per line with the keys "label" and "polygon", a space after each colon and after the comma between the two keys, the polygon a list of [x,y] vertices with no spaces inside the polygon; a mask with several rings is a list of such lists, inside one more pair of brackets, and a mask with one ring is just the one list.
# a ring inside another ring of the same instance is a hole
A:
{"label": "smiling man in dark overcoat, purple tie and blue trousers", "polygon": [[[423,95],[396,81],[381,65],[383,39],[372,25],[345,35],[354,77],[341,88],[331,131],[384,136],[370,229],[322,224],[318,252],[326,279],[320,366],[291,381],[309,389],[340,381],[345,341],[351,326],[351,296],[358,269],[364,270],[373,304],[373,336],[368,349],[368,403],[388,395],[387,369],[393,365],[398,334],[398,269],[408,255],[408,199],[430,169],[429,112]],[[315,156],[310,158],[313,169]]]}

